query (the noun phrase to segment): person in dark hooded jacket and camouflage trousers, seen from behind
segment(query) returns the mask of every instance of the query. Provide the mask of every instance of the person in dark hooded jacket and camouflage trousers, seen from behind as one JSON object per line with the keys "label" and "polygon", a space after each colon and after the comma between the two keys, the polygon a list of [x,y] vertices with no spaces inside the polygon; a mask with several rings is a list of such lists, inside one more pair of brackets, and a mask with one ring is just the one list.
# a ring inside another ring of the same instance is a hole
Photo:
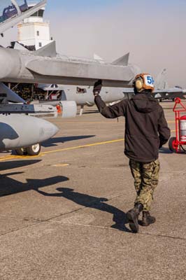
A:
{"label": "person in dark hooded jacket and camouflage trousers, seen from behind", "polygon": [[134,79],[134,97],[106,106],[99,93],[102,81],[94,84],[94,102],[101,115],[106,118],[125,117],[124,154],[129,158],[129,167],[134,177],[136,200],[134,208],[127,212],[129,227],[138,232],[138,216],[143,211],[141,225],[155,223],[150,216],[150,205],[159,178],[159,148],[170,137],[170,130],[159,102],[152,97],[154,80],[147,73]]}

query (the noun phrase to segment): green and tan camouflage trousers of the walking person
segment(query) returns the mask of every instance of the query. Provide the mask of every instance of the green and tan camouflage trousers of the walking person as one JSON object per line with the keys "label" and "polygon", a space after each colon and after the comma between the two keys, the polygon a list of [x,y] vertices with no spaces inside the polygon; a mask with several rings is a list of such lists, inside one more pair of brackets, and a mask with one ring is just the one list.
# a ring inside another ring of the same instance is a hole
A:
{"label": "green and tan camouflage trousers of the walking person", "polygon": [[143,204],[143,211],[150,211],[153,193],[159,179],[159,160],[150,163],[130,160],[129,166],[134,177],[134,186],[137,194],[134,204],[141,203]]}

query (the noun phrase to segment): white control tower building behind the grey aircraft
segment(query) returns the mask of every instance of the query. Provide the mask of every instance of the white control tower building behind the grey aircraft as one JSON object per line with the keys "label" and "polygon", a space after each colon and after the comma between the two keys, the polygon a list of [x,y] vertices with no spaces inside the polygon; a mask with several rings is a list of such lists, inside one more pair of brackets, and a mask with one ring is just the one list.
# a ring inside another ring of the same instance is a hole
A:
{"label": "white control tower building behind the grey aircraft", "polygon": [[[38,1],[29,1],[29,8],[36,6]],[[35,45],[36,50],[52,42],[50,38],[50,22],[43,20],[45,8],[41,8],[29,18],[17,25],[18,42],[23,45]]]}

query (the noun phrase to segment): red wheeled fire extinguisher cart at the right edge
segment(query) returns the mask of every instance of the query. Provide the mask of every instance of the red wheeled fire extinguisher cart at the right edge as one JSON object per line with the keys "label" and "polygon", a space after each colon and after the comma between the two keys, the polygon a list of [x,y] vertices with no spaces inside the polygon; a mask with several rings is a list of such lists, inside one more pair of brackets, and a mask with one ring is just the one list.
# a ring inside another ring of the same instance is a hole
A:
{"label": "red wheeled fire extinguisher cart at the right edge", "polygon": [[176,137],[171,137],[169,140],[169,149],[176,153],[186,152],[183,148],[183,145],[186,145],[186,116],[183,116],[183,112],[186,113],[186,107],[178,97],[175,99],[173,112],[175,113]]}

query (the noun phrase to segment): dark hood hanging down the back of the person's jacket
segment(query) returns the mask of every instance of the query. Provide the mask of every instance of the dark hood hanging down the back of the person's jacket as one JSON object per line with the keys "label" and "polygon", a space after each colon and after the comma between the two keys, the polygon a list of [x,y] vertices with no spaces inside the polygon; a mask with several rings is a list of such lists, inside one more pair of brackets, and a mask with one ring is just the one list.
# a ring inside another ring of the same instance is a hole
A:
{"label": "dark hood hanging down the back of the person's jacket", "polygon": [[150,95],[145,93],[136,94],[132,99],[136,110],[141,113],[150,113],[157,110],[159,103],[158,101]]}

